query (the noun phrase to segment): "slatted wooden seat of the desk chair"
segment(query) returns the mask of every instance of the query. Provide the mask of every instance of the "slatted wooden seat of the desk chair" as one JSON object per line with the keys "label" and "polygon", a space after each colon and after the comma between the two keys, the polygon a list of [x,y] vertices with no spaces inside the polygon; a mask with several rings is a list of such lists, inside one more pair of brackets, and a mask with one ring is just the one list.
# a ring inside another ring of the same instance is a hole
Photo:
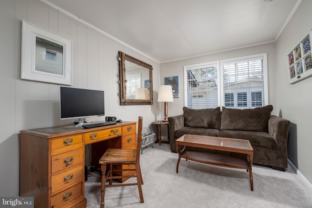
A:
{"label": "slatted wooden seat of the desk chair", "polygon": [[99,164],[109,164],[109,163],[125,163],[125,164],[135,164],[136,163],[136,150],[123,150],[123,149],[108,149],[101,159]]}

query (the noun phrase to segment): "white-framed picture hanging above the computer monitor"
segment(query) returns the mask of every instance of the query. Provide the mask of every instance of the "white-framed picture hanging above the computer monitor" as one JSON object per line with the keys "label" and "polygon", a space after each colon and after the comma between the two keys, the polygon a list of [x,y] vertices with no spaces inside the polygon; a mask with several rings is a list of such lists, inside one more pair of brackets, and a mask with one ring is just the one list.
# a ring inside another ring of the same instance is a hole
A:
{"label": "white-framed picture hanging above the computer monitor", "polygon": [[73,84],[72,40],[22,20],[20,78]]}

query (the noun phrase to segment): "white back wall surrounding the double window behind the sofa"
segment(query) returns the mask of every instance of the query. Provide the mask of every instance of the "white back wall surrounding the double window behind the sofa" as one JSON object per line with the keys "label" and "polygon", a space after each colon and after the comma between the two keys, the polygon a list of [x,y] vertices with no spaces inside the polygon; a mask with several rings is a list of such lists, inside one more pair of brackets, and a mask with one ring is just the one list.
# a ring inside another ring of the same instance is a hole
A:
{"label": "white back wall surrounding the double window behind the sofa", "polygon": [[[276,88],[275,88],[275,49],[274,43],[268,43],[258,46],[252,46],[232,51],[220,52],[211,55],[200,57],[192,57],[167,63],[160,64],[160,84],[164,84],[164,77],[179,76],[179,98],[174,98],[174,102],[168,103],[168,115],[182,114],[184,105],[184,66],[206,63],[211,61],[218,61],[222,59],[229,59],[235,57],[244,57],[255,54],[267,53],[268,58],[268,82],[269,82],[269,104],[273,105],[273,114],[279,112],[276,101]],[[163,112],[163,106],[161,106]]]}

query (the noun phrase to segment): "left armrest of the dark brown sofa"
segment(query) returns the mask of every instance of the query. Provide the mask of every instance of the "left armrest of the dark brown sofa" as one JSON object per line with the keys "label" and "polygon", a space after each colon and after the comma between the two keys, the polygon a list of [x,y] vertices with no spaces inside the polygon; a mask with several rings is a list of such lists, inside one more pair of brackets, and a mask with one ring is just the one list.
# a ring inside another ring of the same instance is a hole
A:
{"label": "left armrest of the dark brown sofa", "polygon": [[170,133],[170,149],[176,152],[176,130],[184,127],[184,115],[175,115],[168,118],[169,120],[169,133]]}

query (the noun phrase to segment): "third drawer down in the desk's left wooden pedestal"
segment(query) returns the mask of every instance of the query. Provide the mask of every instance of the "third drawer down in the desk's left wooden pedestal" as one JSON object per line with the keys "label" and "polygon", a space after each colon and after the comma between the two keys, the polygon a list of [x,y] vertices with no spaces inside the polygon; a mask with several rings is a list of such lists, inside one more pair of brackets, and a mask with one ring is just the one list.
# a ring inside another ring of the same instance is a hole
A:
{"label": "third drawer down in the desk's left wooden pedestal", "polygon": [[73,184],[83,181],[83,166],[78,166],[76,168],[66,170],[57,175],[52,176],[51,180],[51,193],[55,194],[61,189],[66,189]]}

